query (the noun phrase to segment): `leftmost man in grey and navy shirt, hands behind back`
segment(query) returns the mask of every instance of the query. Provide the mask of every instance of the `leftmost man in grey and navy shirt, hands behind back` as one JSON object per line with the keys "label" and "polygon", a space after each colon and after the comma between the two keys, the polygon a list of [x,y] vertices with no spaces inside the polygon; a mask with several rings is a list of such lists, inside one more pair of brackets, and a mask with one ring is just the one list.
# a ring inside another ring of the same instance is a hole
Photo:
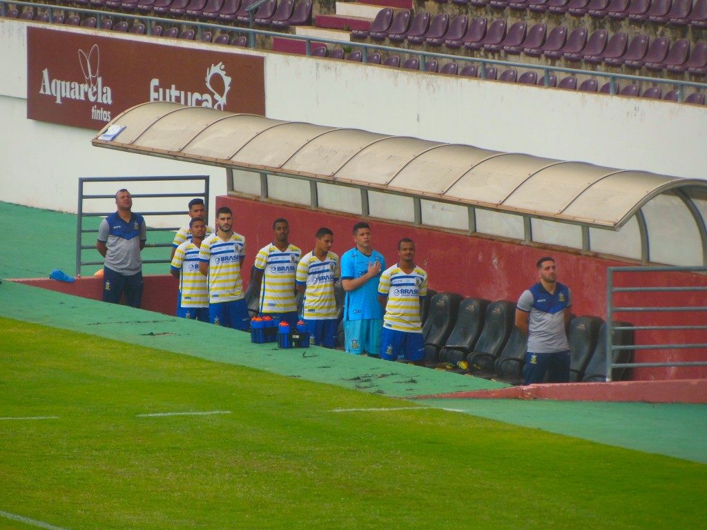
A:
{"label": "leftmost man in grey and navy shirt, hands behind back", "polygon": [[147,240],[143,216],[132,212],[132,196],[127,189],[115,194],[117,211],[100,222],[95,247],[105,258],[103,301],[120,303],[125,293],[127,305],[140,307],[142,301],[142,259]]}

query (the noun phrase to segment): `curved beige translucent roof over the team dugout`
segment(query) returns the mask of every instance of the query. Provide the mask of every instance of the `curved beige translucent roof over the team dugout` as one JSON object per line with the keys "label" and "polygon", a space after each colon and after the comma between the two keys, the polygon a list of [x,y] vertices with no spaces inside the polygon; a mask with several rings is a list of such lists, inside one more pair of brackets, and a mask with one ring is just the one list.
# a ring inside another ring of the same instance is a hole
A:
{"label": "curved beige translucent roof over the team dugout", "polygon": [[[112,124],[125,129],[112,141],[100,140]],[[94,146],[614,230],[654,196],[676,188],[707,190],[699,179],[168,102],[137,105],[107,126]]]}

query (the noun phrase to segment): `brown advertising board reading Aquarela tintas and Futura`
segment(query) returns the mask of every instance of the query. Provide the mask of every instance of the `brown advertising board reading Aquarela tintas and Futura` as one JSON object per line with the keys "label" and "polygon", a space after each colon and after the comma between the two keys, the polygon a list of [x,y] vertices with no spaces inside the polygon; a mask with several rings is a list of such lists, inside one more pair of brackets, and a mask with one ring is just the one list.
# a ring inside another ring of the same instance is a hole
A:
{"label": "brown advertising board reading Aquarela tintas and Futura", "polygon": [[265,114],[263,57],[27,30],[29,119],[98,130],[146,101]]}

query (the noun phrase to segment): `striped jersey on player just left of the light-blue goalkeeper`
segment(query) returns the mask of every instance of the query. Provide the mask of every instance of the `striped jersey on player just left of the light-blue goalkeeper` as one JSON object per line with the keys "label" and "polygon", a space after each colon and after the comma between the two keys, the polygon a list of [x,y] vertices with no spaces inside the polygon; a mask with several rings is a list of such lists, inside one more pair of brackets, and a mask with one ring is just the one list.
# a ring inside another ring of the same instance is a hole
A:
{"label": "striped jersey on player just left of the light-blue goalkeeper", "polygon": [[339,276],[339,257],[334,252],[327,253],[322,261],[313,252],[300,259],[296,280],[298,285],[305,285],[303,318],[324,320],[337,317],[334,282]]}

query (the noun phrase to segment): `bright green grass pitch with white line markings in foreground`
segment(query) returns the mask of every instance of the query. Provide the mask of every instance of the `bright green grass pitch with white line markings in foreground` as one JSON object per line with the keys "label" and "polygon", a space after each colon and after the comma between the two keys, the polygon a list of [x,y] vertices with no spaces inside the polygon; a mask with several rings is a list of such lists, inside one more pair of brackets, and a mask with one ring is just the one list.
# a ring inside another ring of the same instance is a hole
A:
{"label": "bright green grass pitch with white line markings in foreground", "polygon": [[332,412],[400,406],[0,319],[0,417],[59,416],[0,420],[0,510],[70,530],[705,524],[703,464],[432,408]]}

